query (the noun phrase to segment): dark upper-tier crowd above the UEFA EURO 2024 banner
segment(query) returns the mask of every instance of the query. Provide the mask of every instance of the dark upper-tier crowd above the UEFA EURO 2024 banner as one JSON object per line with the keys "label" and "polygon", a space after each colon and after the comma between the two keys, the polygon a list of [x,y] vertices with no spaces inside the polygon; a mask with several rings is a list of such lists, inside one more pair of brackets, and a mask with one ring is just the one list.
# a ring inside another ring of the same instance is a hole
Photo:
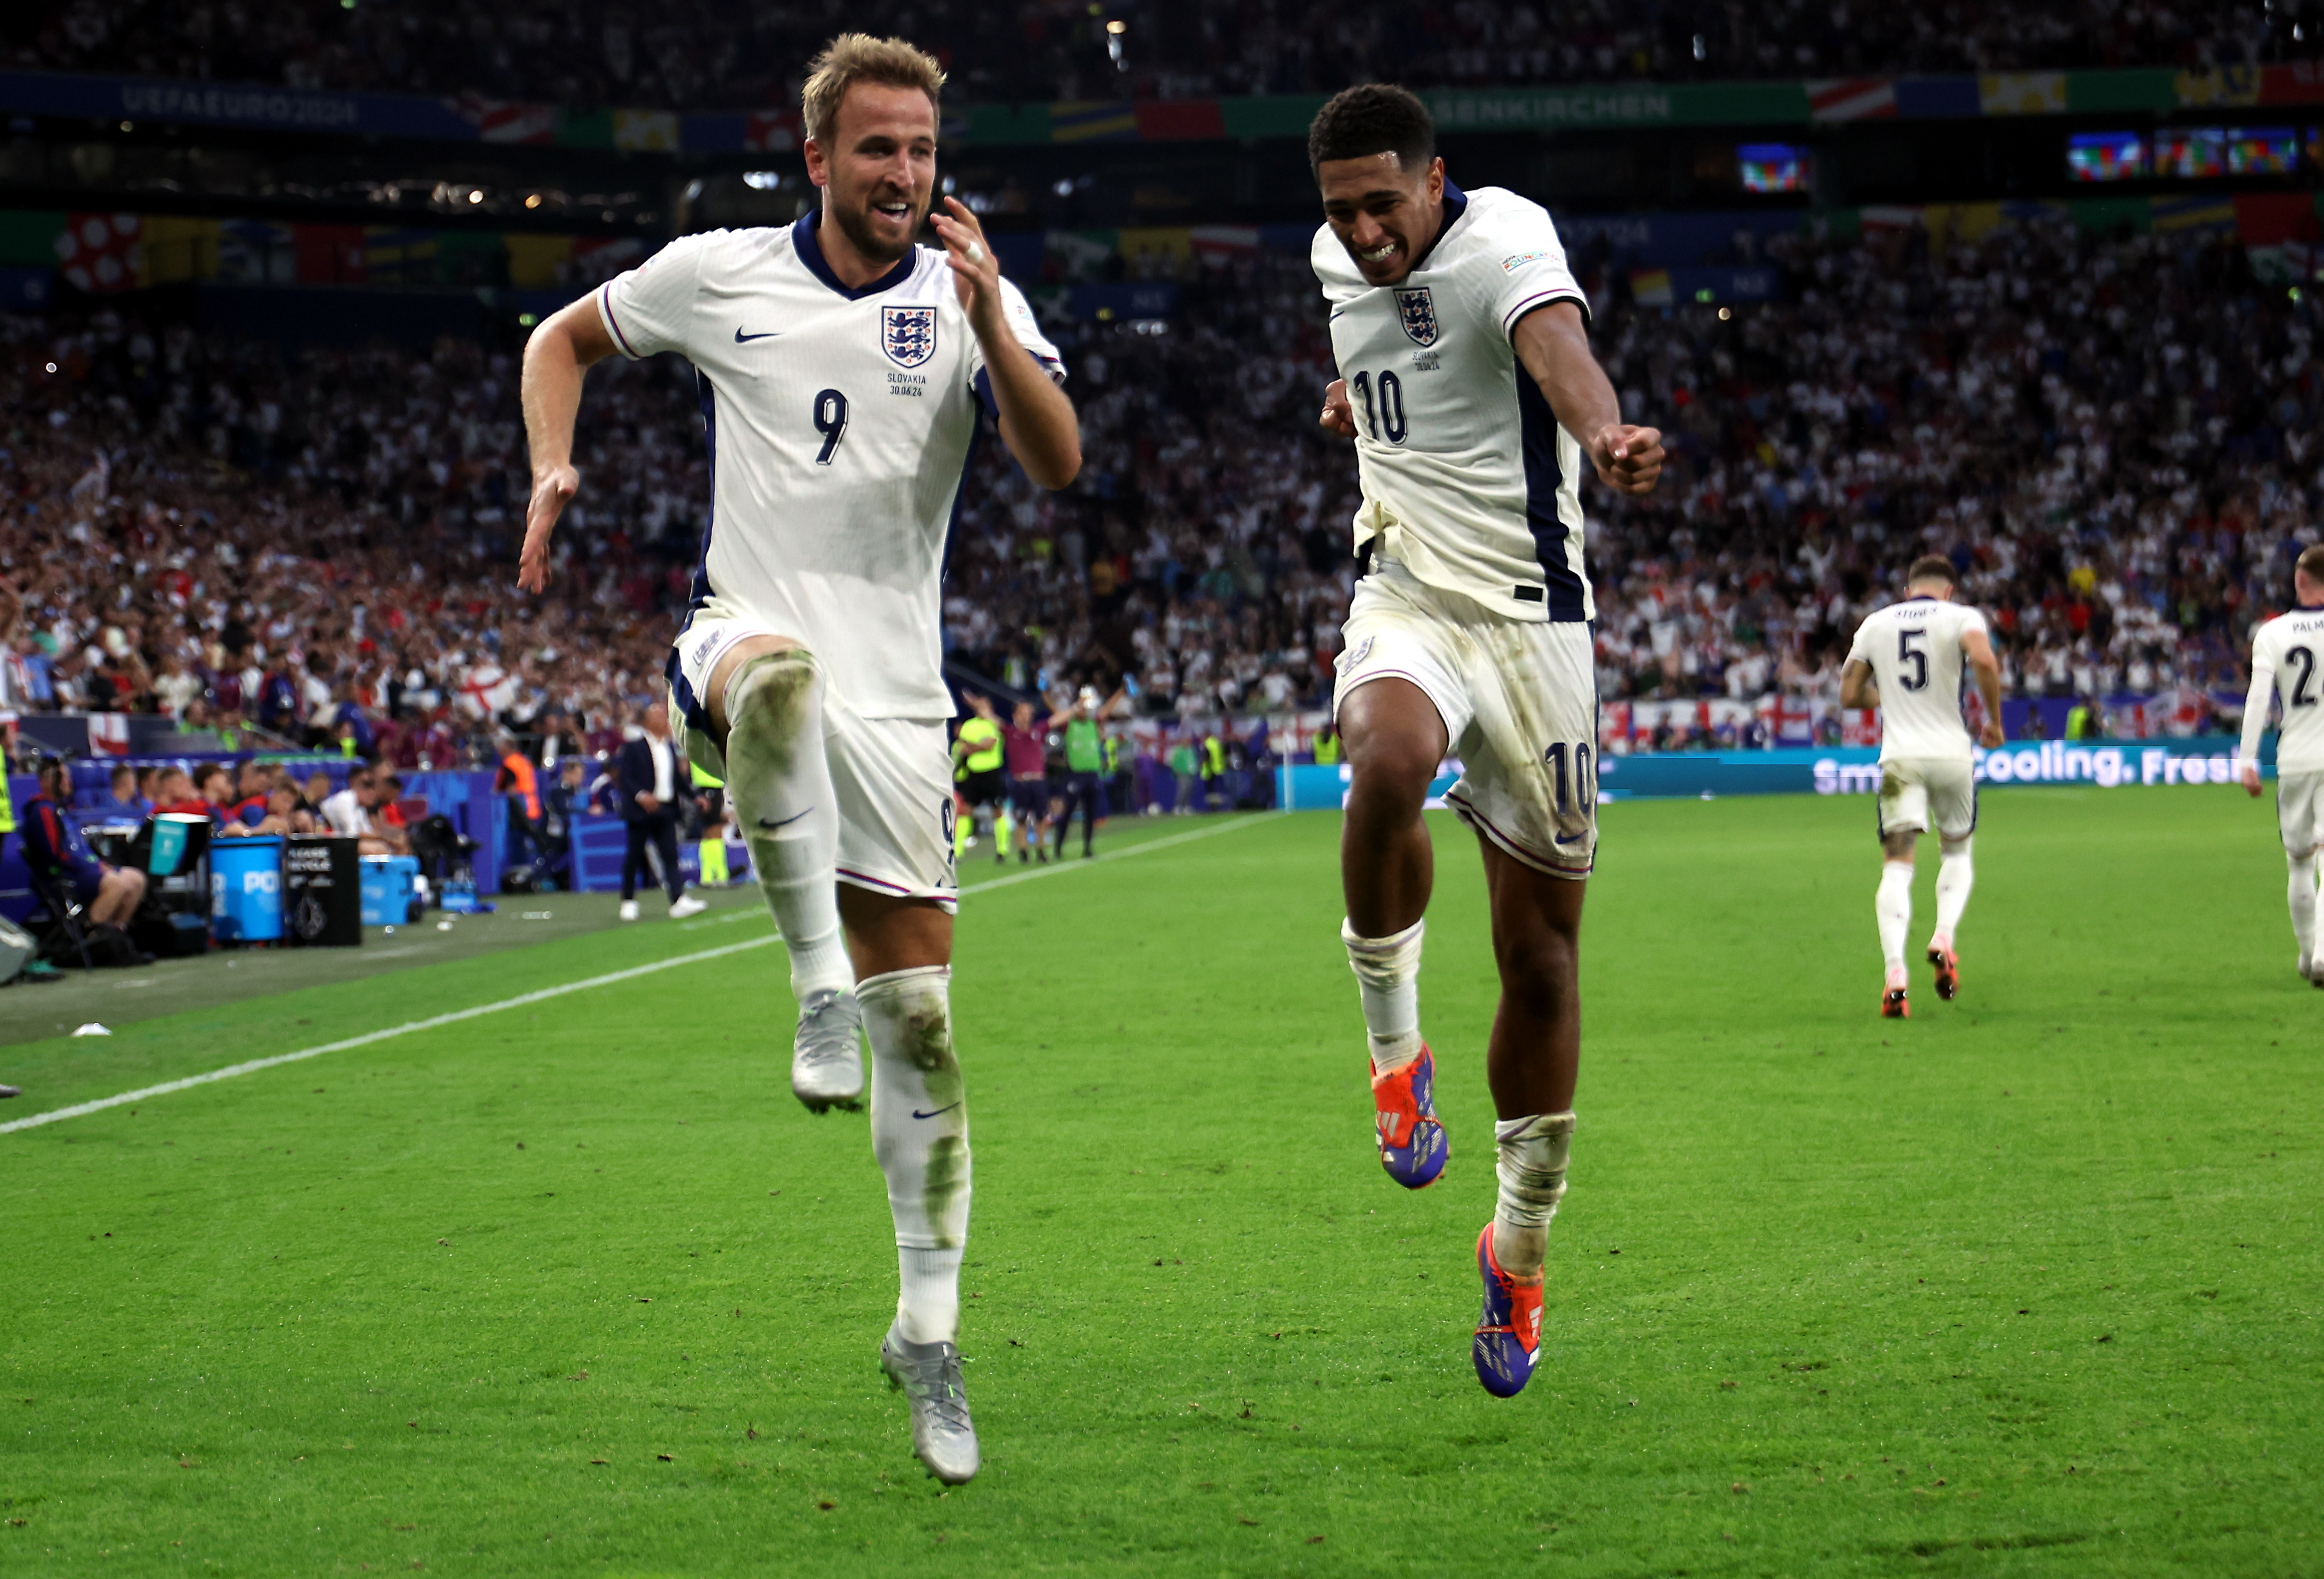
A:
{"label": "dark upper-tier crowd above the UEFA EURO 2024 banner", "polygon": [[[481,93],[555,104],[751,109],[795,104],[769,63],[813,56],[827,7],[709,0],[651,9],[521,0],[462,7],[304,0],[35,0],[0,21],[19,70],[135,72],[297,88]],[[846,26],[937,51],[967,100],[1329,93],[1350,81],[1515,86],[1615,79],[1841,77],[2054,67],[2247,65],[2305,56],[2308,0],[1850,0],[1615,5],[1083,5],[860,0]],[[1120,33],[1109,33],[1120,23]]]}

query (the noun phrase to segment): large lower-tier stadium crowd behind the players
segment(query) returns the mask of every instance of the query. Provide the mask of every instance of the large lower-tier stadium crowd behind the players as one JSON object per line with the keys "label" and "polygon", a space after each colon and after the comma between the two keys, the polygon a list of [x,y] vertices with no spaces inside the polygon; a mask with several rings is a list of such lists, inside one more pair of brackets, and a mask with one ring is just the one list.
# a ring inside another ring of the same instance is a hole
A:
{"label": "large lower-tier stadium crowd behind the players", "polygon": [[[1585,495],[1608,701],[1829,704],[1922,550],[1994,615],[2013,694],[2201,713],[2240,687],[2315,541],[2312,300],[2224,239],[2061,218],[1762,260],[1780,302],[1676,309],[1576,260],[1624,413],[1671,448],[1652,499]],[[418,769],[495,762],[500,731],[604,752],[658,694],[706,495],[679,365],[593,374],[583,495],[530,601],[507,353],[284,358],[116,309],[0,334],[0,708],[153,706]],[[981,446],[951,657],[1018,692],[1127,680],[1148,718],[1320,708],[1355,476],[1313,430],[1306,260],[1188,262],[1171,320],[1055,334],[1088,462],[1053,497]]]}

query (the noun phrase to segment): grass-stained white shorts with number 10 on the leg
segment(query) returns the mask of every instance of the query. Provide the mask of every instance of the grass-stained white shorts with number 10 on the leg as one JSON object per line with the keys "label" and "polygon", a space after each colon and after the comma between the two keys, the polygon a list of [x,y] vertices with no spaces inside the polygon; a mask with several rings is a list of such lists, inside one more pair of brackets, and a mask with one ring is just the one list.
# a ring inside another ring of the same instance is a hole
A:
{"label": "grass-stained white shorts with number 10 on the leg", "polygon": [[1332,713],[1367,680],[1418,685],[1462,762],[1446,806],[1555,878],[1597,861],[1597,669],[1583,622],[1511,620],[1383,555],[1355,583]]}

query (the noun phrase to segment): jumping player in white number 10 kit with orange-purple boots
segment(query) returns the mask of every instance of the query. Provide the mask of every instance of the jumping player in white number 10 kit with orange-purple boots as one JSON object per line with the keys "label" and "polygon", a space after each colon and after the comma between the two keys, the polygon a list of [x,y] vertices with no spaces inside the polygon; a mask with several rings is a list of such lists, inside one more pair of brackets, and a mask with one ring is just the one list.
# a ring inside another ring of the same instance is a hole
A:
{"label": "jumping player in white number 10 kit with orange-purple boots", "polygon": [[1339,378],[1322,425],[1355,439],[1364,576],[1334,711],[1348,750],[1341,940],[1364,1005],[1380,1166],[1443,1173],[1436,1066],[1420,1040],[1420,938],[1434,882],[1420,817],[1446,794],[1476,829],[1501,975],[1485,1075],[1499,1205],[1476,1240],[1485,1310],[1471,1358],[1508,1398],[1541,1347],[1541,1268],[1566,1187],[1580,1064],[1578,933],[1597,852],[1594,604],[1585,464],[1655,488],[1662,434],[1622,423],[1590,355],[1587,302],[1550,216],[1462,193],[1404,88],[1348,88],[1315,116],[1315,279]]}

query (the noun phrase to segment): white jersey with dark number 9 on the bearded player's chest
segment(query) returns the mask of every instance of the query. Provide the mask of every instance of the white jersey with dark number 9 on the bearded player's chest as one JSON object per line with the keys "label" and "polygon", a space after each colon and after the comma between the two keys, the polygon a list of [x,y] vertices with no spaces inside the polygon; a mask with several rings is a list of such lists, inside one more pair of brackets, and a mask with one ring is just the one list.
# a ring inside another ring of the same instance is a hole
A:
{"label": "white jersey with dark number 9 on the bearded player's chest", "polygon": [[[862,718],[951,718],[939,583],[983,346],[941,251],[848,290],[818,218],[681,237],[600,288],[597,313],[623,355],[676,351],[702,383],[693,601],[797,636]],[[1018,344],[1062,378],[1023,293],[1004,279],[1002,295]]]}

